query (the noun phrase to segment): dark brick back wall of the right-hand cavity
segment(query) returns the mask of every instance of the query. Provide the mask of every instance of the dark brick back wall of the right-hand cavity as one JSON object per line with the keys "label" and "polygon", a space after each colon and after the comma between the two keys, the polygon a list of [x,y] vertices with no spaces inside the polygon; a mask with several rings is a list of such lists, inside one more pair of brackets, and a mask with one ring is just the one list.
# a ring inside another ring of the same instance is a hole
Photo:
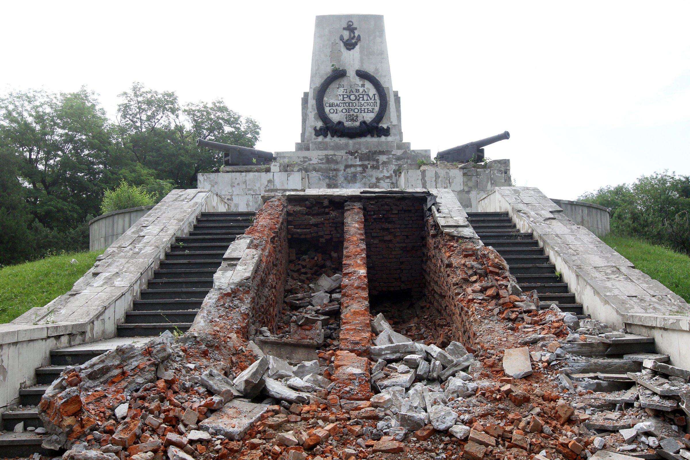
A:
{"label": "dark brick back wall of the right-hand cavity", "polygon": [[371,295],[411,289],[424,294],[424,206],[426,199],[364,201],[367,270]]}

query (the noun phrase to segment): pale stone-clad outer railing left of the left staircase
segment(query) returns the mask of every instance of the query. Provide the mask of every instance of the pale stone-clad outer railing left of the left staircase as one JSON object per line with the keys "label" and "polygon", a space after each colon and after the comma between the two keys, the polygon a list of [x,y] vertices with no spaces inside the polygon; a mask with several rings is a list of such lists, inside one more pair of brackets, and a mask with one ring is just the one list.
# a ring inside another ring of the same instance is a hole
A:
{"label": "pale stone-clad outer railing left of the left staircase", "polygon": [[166,250],[190,232],[201,212],[228,211],[209,190],[172,190],[100,255],[72,290],[11,323],[0,324],[0,412],[35,383],[50,351],[117,334]]}

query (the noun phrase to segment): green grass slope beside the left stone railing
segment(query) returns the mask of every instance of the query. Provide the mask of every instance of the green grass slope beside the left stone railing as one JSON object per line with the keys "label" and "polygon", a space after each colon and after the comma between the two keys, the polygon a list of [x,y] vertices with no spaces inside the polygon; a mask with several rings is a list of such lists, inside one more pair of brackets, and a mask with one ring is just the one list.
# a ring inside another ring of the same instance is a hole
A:
{"label": "green grass slope beside the left stone railing", "polygon": [[[30,308],[43,307],[72,289],[103,251],[72,252],[0,268],[0,323]],[[76,259],[78,263],[70,263]]]}

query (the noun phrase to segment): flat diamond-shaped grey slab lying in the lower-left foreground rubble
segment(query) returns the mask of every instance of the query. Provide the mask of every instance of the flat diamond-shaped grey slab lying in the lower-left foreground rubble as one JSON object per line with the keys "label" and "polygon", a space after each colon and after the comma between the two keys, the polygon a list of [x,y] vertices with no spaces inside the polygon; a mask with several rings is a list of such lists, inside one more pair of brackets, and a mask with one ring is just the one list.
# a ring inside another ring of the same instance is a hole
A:
{"label": "flat diamond-shaped grey slab lying in the lower-left foreground rubble", "polygon": [[199,428],[206,432],[214,430],[233,441],[239,441],[244,437],[247,430],[261,419],[267,404],[256,404],[248,401],[233,399],[221,410],[214,412],[208,419],[199,423]]}

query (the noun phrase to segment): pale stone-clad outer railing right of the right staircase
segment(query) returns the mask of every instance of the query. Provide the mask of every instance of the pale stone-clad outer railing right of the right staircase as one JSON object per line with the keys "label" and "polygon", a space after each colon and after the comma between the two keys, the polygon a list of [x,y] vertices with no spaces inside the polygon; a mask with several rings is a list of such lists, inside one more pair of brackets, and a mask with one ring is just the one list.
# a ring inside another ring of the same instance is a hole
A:
{"label": "pale stone-clad outer railing right of the right staircase", "polygon": [[531,232],[585,314],[613,328],[653,337],[658,352],[690,368],[690,306],[659,281],[635,270],[592,232],[570,221],[538,188],[498,187],[484,194],[480,212],[508,212]]}

